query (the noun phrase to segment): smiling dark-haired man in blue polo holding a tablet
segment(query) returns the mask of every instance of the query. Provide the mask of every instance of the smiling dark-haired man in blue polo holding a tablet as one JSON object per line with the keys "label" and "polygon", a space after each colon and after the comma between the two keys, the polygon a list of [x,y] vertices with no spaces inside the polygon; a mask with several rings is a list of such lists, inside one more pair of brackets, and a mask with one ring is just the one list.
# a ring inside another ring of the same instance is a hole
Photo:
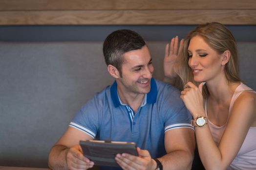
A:
{"label": "smiling dark-haired man in blue polo holding a tablet", "polygon": [[154,68],[144,39],[133,31],[118,30],[107,36],[103,52],[107,71],[115,82],[77,113],[51,149],[49,167],[92,168],[94,163],[83,156],[79,141],[111,139],[138,146],[139,156],[116,155],[124,170],[191,169],[192,118],[180,100],[180,92],[152,78]]}

